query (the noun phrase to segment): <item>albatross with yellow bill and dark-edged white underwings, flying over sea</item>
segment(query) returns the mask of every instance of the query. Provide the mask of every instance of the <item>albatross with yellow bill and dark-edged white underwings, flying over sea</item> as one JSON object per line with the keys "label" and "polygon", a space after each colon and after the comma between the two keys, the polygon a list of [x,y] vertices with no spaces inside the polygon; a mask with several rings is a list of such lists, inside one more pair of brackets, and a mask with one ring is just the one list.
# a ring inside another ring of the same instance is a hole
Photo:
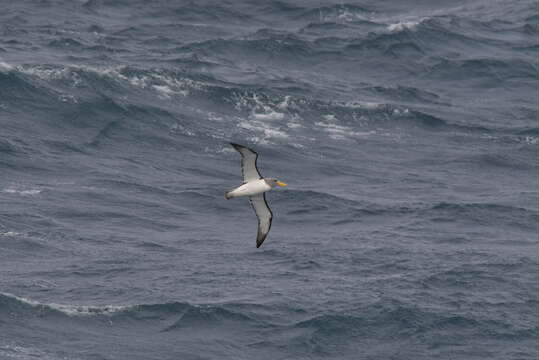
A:
{"label": "albatross with yellow bill and dark-edged white underwings, flying over sea", "polygon": [[263,178],[260,171],[256,167],[258,153],[243,145],[230,143],[234,149],[241,154],[241,171],[243,173],[243,184],[237,188],[228,191],[225,194],[225,199],[232,199],[240,196],[248,196],[249,202],[255,211],[258,218],[258,234],[256,236],[256,247],[266,240],[269,229],[271,228],[271,220],[273,213],[266,201],[266,191],[273,189],[275,186],[286,186],[275,178]]}

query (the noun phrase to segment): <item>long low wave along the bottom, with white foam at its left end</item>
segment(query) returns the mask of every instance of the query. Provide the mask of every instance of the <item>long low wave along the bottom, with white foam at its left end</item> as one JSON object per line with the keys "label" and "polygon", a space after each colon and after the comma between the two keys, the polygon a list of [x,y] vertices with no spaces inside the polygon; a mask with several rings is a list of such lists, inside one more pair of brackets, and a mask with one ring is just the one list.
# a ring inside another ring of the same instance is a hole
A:
{"label": "long low wave along the bottom, with white foam at its left end", "polygon": [[[468,270],[466,270],[468,272]],[[447,276],[449,276],[448,273]],[[472,279],[473,272],[465,279]],[[476,274],[477,275],[477,274]],[[439,276],[439,275],[437,275]],[[436,285],[436,277],[427,279],[428,286]],[[471,286],[472,284],[470,284]],[[462,284],[458,285],[459,288]],[[515,306],[514,303],[489,304],[486,307]],[[524,304],[518,304],[524,306]],[[532,303],[527,305],[533,306]],[[278,324],[268,318],[272,312],[285,311],[292,317]],[[295,331],[290,339],[292,343],[303,342],[306,339],[315,343],[330,342],[334,339],[350,337],[386,339],[399,334],[402,338],[417,336],[423,333],[444,333],[447,331],[464,330],[477,334],[485,331],[494,332],[500,337],[532,338],[537,334],[537,327],[524,324],[509,323],[507,319],[498,317],[484,319],[477,315],[460,311],[437,311],[432,308],[411,305],[402,302],[380,300],[355,309],[342,312],[330,312],[319,315],[309,315],[292,307],[272,307],[231,303],[222,305],[192,305],[180,302],[141,305],[104,305],[80,306],[40,303],[12,294],[0,293],[0,312],[9,312],[19,318],[38,316],[40,321],[50,321],[59,317],[60,321],[83,321],[86,327],[92,323],[87,318],[106,318],[114,323],[127,322],[129,327],[145,326],[147,322],[157,322],[162,333],[178,331],[194,331],[201,329],[249,329],[256,331],[290,332]],[[297,318],[300,317],[298,320]],[[295,319],[296,318],[296,319]],[[63,320],[62,320],[63,319]],[[300,331],[300,332],[298,332]],[[270,336],[269,342],[278,338]],[[429,341],[435,341],[433,338]]]}

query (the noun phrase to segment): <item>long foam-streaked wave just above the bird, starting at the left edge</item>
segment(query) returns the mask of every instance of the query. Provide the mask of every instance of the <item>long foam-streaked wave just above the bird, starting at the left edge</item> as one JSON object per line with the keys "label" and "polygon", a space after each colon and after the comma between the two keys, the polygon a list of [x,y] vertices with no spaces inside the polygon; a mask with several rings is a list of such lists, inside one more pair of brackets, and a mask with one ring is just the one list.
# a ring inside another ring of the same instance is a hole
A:
{"label": "long foam-streaked wave just above the bird, starting at the left edge", "polygon": [[[208,76],[191,76],[183,71],[166,69],[17,65],[11,67],[7,74],[0,73],[0,76],[8,77],[16,88],[12,94],[21,94],[13,105],[24,101],[26,109],[35,107],[36,103],[50,106],[52,98],[60,110],[61,119],[68,120],[77,114],[77,122],[69,121],[70,125],[99,129],[93,139],[87,141],[90,146],[99,146],[117,135],[135,136],[125,131],[126,118],[130,119],[129,123],[135,120],[142,122],[148,117],[159,119],[160,126],[154,127],[153,131],[147,128],[145,138],[170,142],[171,145],[171,135],[200,137],[216,133],[215,126],[204,128],[200,122],[190,120],[193,116],[200,116],[197,108],[201,101],[209,109],[218,108],[219,113],[226,117],[226,124],[235,122],[238,130],[251,132],[253,139],[258,137],[259,141],[266,142],[269,139],[292,138],[291,134],[305,137],[300,135],[301,131],[294,130],[304,129],[305,125],[336,140],[375,135],[373,129],[403,123],[434,131],[489,131],[481,126],[464,125],[414,110],[414,103],[443,103],[437,94],[412,87],[364,88],[371,95],[409,104],[403,106],[390,102],[327,102],[299,94],[279,94],[273,89],[255,91]],[[87,87],[101,89],[102,95],[88,97]],[[302,90],[303,93],[309,91]],[[131,94],[137,100],[136,105],[113,95],[115,92]],[[148,93],[154,97],[152,100],[157,99],[160,103],[147,99],[145,95]],[[173,103],[178,99],[184,102],[183,106]],[[178,112],[183,115],[181,122],[176,120]],[[210,110],[208,116],[211,114]],[[70,146],[82,151],[75,144]]]}

